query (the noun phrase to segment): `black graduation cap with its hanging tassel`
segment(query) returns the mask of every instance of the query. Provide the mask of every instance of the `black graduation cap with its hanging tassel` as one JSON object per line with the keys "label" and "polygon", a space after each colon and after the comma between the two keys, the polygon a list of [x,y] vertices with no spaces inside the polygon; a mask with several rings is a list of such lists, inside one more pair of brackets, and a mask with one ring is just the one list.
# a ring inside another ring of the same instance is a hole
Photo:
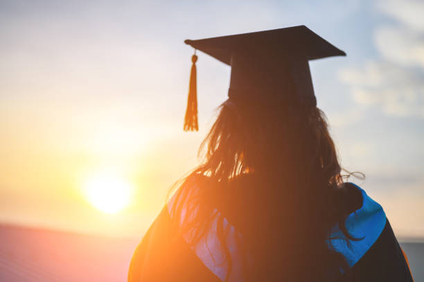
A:
{"label": "black graduation cap with its hanging tassel", "polygon": [[[264,105],[315,107],[308,61],[346,55],[306,26],[184,42],[231,66],[230,99]],[[198,130],[196,61],[194,54],[185,131]]]}

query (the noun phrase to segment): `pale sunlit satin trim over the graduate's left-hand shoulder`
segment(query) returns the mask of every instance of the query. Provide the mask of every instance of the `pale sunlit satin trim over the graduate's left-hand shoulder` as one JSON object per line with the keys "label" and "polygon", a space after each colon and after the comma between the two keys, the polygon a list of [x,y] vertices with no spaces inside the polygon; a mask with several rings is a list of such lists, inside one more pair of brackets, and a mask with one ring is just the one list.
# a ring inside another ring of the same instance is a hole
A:
{"label": "pale sunlit satin trim over the graduate's left-hand shoulder", "polygon": [[[220,281],[225,281],[227,274],[227,281],[242,281],[242,236],[224,216],[220,206],[216,205],[220,199],[215,198],[216,191],[209,189],[213,184],[215,182],[211,182],[209,177],[189,177],[168,202],[168,213],[170,218],[179,222],[180,227],[190,227],[182,228],[182,238],[209,272]],[[193,227],[186,224],[197,215],[207,218],[208,224],[195,224]],[[200,229],[197,229],[199,226]],[[193,236],[196,231],[200,231],[202,236]],[[231,260],[231,270],[228,260]]]}

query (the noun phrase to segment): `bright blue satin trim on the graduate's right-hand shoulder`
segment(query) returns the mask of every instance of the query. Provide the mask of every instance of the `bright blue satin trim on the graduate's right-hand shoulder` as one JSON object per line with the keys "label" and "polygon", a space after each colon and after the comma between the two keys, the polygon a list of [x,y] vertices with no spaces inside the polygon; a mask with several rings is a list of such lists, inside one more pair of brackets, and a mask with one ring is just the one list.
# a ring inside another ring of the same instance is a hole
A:
{"label": "bright blue satin trim on the graduate's right-hand shoulder", "polygon": [[353,267],[376,243],[386,225],[386,214],[380,204],[366,195],[362,188],[356,187],[362,193],[362,207],[348,215],[346,229],[351,236],[362,238],[362,240],[348,240],[339,229],[338,224],[333,227],[331,239],[328,240],[328,245],[343,254],[350,267]]}

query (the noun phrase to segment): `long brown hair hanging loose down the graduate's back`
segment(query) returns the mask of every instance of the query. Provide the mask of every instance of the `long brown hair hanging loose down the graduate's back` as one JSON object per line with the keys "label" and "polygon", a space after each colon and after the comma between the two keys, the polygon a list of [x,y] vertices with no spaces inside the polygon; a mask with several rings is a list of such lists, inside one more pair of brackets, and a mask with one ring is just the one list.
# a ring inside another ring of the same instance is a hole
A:
{"label": "long brown hair hanging loose down the graduate's back", "polygon": [[[250,259],[249,267],[244,263],[246,281],[330,281],[347,270],[344,256],[327,244],[337,222],[348,236],[344,220],[351,210],[337,197],[342,168],[320,109],[229,99],[200,152],[202,164],[176,196],[178,203],[190,203],[185,206],[191,216],[182,218],[183,204],[170,211],[175,222],[182,222],[179,230],[193,234],[191,243],[211,224],[216,202],[241,209],[235,199],[251,195],[243,198],[242,211],[249,219],[242,233]],[[195,186],[198,191],[192,193]],[[218,229],[231,272],[225,236]]]}

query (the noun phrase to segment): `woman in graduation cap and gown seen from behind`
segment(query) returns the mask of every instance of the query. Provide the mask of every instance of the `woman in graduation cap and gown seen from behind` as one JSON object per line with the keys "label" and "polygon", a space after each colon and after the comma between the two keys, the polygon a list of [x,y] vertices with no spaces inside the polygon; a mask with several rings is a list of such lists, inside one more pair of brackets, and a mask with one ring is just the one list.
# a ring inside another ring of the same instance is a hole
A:
{"label": "woman in graduation cap and gown seen from behind", "polygon": [[[382,206],[342,175],[317,108],[308,61],[344,51],[306,26],[185,42],[231,66],[229,98],[128,281],[413,281]],[[184,130],[198,130],[196,61]]]}

